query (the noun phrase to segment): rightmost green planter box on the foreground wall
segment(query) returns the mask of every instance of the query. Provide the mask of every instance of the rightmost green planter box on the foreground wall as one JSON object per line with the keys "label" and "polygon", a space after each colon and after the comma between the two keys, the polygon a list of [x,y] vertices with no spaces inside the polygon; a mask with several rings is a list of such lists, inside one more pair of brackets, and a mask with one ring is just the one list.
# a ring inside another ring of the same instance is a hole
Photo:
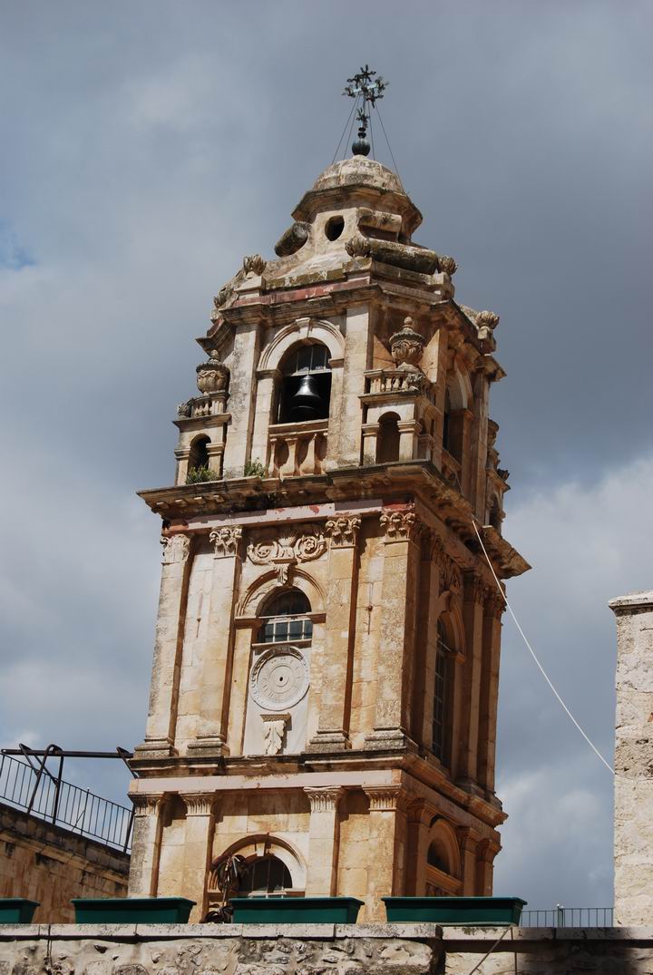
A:
{"label": "rightmost green planter box on the foreground wall", "polygon": [[519,924],[520,897],[382,897],[389,921],[434,924]]}

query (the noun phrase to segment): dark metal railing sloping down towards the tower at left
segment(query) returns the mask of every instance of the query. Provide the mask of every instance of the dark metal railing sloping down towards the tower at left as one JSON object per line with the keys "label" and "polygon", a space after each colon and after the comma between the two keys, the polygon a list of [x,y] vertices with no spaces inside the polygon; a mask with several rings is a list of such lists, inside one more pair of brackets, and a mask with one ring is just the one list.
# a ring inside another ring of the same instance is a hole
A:
{"label": "dark metal railing sloping down towards the tower at left", "polygon": [[46,768],[45,759],[33,765],[29,752],[25,750],[23,754],[24,761],[6,752],[0,756],[0,800],[81,837],[124,852],[130,849],[133,808],[64,782],[60,774],[63,761],[58,752],[47,756],[59,758],[55,775]]}

